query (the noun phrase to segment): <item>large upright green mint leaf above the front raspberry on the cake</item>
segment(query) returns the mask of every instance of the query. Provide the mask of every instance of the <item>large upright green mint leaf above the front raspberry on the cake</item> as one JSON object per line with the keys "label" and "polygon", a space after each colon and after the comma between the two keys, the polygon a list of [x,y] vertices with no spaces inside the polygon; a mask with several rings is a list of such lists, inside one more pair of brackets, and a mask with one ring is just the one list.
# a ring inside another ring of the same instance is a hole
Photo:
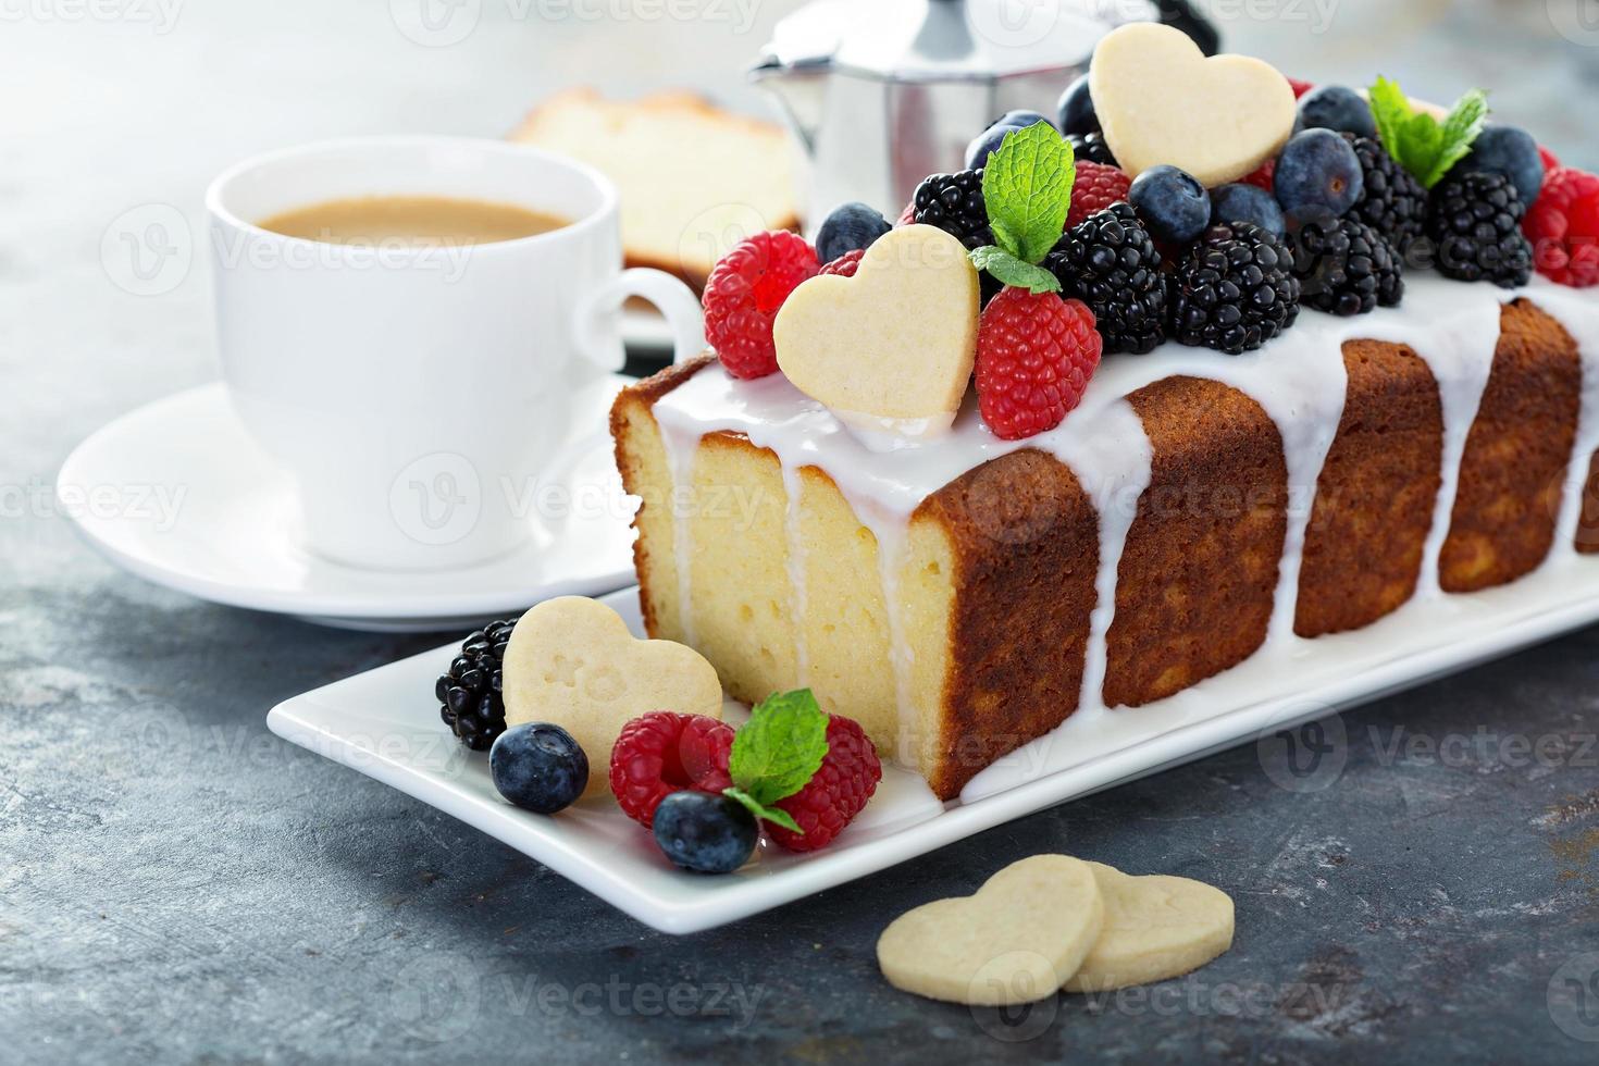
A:
{"label": "large upright green mint leaf above the front raspberry on the cake", "polygon": [[1067,225],[1075,177],[1071,145],[1047,121],[1006,134],[983,165],[983,206],[999,248],[1030,264],[1047,256]]}

